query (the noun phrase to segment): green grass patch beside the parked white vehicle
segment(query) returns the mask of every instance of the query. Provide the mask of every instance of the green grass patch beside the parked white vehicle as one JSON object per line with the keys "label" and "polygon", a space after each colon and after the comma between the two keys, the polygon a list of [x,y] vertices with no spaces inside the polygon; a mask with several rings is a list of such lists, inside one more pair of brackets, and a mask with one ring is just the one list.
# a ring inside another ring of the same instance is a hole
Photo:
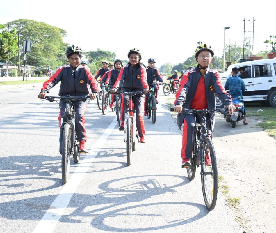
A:
{"label": "green grass patch beside the parked white vehicle", "polygon": [[[263,110],[257,112],[257,110]],[[254,116],[258,120],[262,120],[262,123],[257,126],[262,127],[268,135],[276,139],[276,108],[269,105],[262,105],[260,102],[245,102],[245,110],[247,116]]]}

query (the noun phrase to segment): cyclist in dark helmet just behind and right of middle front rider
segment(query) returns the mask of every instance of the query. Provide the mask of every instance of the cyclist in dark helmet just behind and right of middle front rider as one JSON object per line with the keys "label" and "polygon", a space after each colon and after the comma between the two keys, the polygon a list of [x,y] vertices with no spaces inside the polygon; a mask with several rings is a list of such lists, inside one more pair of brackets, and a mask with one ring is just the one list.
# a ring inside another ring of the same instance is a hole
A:
{"label": "cyclist in dark helmet just behind and right of middle front rider", "polygon": [[[153,58],[150,58],[150,59],[148,59],[147,62],[149,63],[149,66],[146,69],[146,71],[147,71],[147,83],[152,84],[152,82],[154,80],[158,80],[161,83],[161,85],[163,85],[164,81],[162,79],[162,76],[160,75],[159,70],[155,68],[155,60]],[[156,103],[158,103],[157,96],[158,96],[159,84],[155,84],[153,86],[153,88],[154,88],[154,92],[155,92],[155,95],[156,95]],[[145,96],[144,116],[147,116],[148,104],[149,104],[149,94],[147,94]]]}

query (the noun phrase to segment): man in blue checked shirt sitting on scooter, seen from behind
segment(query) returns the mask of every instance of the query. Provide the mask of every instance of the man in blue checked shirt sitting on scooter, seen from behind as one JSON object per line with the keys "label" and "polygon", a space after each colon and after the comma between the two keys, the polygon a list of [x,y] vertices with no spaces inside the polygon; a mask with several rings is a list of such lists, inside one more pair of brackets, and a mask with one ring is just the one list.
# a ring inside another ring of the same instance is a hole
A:
{"label": "man in blue checked shirt sitting on scooter, seen from behind", "polygon": [[[241,96],[243,98],[243,91],[245,91],[245,84],[243,80],[238,77],[238,68],[232,68],[232,77],[228,78],[225,83],[225,90],[229,90],[231,96]],[[247,125],[245,108],[243,112],[243,123]]]}

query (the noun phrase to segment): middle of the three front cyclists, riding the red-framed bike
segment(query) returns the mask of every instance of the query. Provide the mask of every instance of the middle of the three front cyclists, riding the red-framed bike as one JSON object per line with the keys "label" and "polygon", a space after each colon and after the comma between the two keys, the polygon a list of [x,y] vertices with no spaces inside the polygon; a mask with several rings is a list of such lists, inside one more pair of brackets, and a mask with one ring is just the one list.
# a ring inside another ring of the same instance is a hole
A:
{"label": "middle of the three front cyclists, riding the red-framed bike", "polygon": [[[117,78],[111,93],[116,93],[117,89],[121,87],[122,91],[144,91],[145,93],[149,92],[149,86],[147,84],[147,72],[146,68],[141,65],[141,52],[137,49],[129,50],[127,57],[129,62],[124,66]],[[128,104],[128,95],[122,95],[122,104],[121,104],[121,120],[122,124],[119,130],[124,130],[124,109]],[[134,103],[134,109],[136,110],[136,128],[140,137],[140,142],[145,143],[145,125],[143,118],[143,107],[145,96],[144,95],[135,95],[132,98]]]}

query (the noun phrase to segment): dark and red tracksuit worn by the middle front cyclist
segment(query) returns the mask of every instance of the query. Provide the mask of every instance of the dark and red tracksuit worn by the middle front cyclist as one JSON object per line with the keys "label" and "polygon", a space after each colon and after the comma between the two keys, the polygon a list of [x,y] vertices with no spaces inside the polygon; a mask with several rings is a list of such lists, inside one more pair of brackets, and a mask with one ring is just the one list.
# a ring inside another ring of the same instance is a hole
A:
{"label": "dark and red tracksuit worn by the middle front cyclist", "polygon": [[[145,88],[149,88],[147,84],[147,72],[144,66],[132,67],[130,64],[124,66],[119,76],[113,85],[113,88],[118,89],[121,87],[122,91],[143,91]],[[124,121],[124,109],[128,104],[128,96],[122,95],[121,105],[121,119]],[[145,125],[143,119],[143,107],[144,107],[144,95],[135,95],[132,98],[134,102],[134,109],[136,110],[136,128],[139,136],[145,135]]]}

